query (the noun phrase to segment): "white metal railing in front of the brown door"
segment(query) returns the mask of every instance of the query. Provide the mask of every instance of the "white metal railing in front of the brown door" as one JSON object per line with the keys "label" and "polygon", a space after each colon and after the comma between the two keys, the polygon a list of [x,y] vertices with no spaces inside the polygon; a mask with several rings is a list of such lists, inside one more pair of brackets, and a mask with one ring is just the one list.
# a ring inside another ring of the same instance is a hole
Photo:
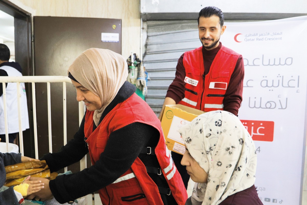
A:
{"label": "white metal railing in front of the brown door", "polygon": [[[64,145],[67,143],[67,126],[66,126],[66,83],[71,83],[67,76],[21,76],[21,77],[0,77],[0,83],[3,87],[3,104],[4,104],[4,122],[6,132],[6,151],[9,152],[9,136],[7,126],[7,106],[6,106],[6,86],[5,83],[16,83],[17,86],[17,106],[18,106],[18,124],[19,124],[19,146],[20,153],[24,156],[23,150],[23,135],[21,127],[21,94],[20,83],[32,83],[32,101],[33,101],[33,126],[34,126],[34,145],[35,158],[38,159],[38,144],[37,144],[37,118],[36,118],[36,98],[35,98],[35,83],[47,83],[47,101],[48,101],[48,132],[49,132],[49,152],[52,153],[52,135],[51,135],[51,101],[50,101],[50,83],[63,82],[63,128],[64,128]],[[79,102],[79,124],[84,116],[84,104]],[[86,156],[80,161],[80,170],[86,168]],[[67,168],[65,168],[67,171]]]}

